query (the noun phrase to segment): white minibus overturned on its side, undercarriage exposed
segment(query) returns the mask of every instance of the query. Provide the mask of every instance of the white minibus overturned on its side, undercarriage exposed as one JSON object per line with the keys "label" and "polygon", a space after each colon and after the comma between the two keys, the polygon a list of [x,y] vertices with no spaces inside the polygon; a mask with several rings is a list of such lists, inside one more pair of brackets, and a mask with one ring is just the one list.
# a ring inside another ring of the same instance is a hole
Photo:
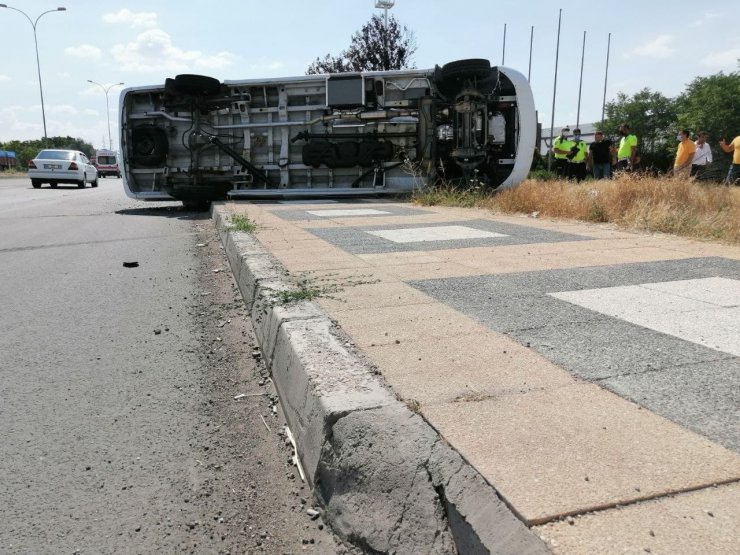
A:
{"label": "white minibus overturned on its side, undercarriage exposed", "polygon": [[529,83],[488,60],[428,70],[218,82],[178,75],[120,96],[124,187],[143,200],[403,193],[526,178]]}

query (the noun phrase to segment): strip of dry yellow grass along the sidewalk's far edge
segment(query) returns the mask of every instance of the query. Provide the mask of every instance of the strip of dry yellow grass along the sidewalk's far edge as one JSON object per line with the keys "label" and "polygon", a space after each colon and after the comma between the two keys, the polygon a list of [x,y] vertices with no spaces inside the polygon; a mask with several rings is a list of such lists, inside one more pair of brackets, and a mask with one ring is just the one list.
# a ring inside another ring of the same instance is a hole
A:
{"label": "strip of dry yellow grass along the sidewalk's far edge", "polygon": [[527,180],[495,195],[441,187],[422,190],[414,199],[427,205],[538,213],[552,218],[611,222],[623,229],[740,243],[740,188],[684,179],[627,175],[581,184]]}

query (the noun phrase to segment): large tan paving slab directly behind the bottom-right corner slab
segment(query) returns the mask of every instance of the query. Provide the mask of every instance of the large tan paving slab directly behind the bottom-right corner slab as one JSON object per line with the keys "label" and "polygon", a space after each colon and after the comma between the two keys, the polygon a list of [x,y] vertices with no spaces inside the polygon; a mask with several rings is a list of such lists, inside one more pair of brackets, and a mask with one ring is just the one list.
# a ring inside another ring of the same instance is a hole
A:
{"label": "large tan paving slab directly behind the bottom-right corner slab", "polygon": [[740,477],[736,453],[593,384],[422,411],[529,524]]}

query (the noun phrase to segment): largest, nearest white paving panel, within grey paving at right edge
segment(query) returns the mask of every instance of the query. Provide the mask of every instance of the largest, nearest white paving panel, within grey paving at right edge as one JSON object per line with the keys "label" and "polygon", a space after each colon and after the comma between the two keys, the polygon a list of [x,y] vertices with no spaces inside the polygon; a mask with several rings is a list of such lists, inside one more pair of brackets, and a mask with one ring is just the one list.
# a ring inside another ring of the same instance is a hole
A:
{"label": "largest, nearest white paving panel, within grey paving at right edge", "polygon": [[638,326],[740,356],[738,280],[692,279],[550,295]]}

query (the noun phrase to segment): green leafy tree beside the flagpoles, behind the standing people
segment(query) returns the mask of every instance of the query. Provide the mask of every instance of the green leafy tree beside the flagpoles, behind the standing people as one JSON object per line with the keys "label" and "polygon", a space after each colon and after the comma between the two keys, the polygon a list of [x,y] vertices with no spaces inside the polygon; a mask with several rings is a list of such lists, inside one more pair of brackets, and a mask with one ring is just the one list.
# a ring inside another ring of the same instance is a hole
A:
{"label": "green leafy tree beside the flagpoles, behind the standing people", "polygon": [[[639,141],[638,152],[643,167],[666,170],[675,155],[678,130],[676,100],[644,88],[629,97],[619,93],[606,104],[603,131],[616,136],[620,123],[630,126]],[[599,123],[596,124],[600,126]]]}

